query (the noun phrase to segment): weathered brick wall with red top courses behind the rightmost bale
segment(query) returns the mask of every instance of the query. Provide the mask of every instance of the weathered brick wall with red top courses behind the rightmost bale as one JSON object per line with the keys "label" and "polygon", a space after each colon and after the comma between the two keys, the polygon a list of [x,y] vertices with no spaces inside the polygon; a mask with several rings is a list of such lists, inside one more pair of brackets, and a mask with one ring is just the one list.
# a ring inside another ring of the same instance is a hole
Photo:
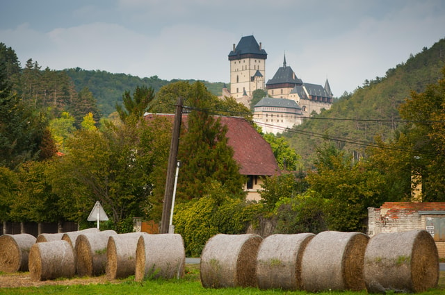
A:
{"label": "weathered brick wall with red top courses behind the rightmost bale", "polygon": [[[368,235],[407,230],[426,230],[427,217],[445,214],[419,214],[419,211],[445,211],[445,202],[386,202],[380,208],[368,208]],[[439,258],[445,258],[445,242],[436,241]]]}

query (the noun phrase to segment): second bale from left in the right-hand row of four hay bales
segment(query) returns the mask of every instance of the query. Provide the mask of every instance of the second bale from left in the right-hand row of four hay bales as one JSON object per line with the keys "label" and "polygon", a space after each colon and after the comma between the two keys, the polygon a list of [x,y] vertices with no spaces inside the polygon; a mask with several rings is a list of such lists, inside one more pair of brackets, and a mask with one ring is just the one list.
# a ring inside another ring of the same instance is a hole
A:
{"label": "second bale from left in the right-hand row of four hay bales", "polygon": [[270,235],[259,245],[257,284],[260,289],[302,289],[301,259],[313,233]]}

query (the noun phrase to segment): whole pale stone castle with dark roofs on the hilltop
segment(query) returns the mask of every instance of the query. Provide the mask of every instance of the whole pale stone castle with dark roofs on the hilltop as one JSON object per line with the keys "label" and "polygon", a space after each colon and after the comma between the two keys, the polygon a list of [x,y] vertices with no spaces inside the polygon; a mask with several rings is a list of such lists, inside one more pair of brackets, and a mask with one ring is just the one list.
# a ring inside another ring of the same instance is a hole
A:
{"label": "whole pale stone castle with dark roofs on the hilltop", "polygon": [[266,83],[267,53],[253,35],[241,40],[229,53],[230,91],[225,88],[223,96],[232,96],[238,103],[250,108],[252,93],[261,89],[269,97],[264,97],[254,108],[254,121],[263,128],[264,133],[282,133],[286,128],[302,123],[304,117],[322,109],[329,109],[333,95],[329,82],[324,87],[304,83],[286,64]]}

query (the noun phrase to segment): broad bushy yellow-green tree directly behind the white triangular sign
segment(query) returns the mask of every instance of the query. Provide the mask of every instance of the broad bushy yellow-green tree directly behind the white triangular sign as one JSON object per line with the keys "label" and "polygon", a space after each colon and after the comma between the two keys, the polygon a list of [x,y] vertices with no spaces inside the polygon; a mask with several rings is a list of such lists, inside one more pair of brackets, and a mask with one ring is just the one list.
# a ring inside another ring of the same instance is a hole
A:
{"label": "broad bushy yellow-green tree directly behind the white triangular sign", "polygon": [[[100,201],[119,231],[129,217],[142,216],[151,193],[151,169],[143,164],[155,153],[139,149],[139,138],[140,129],[134,125],[110,124],[103,131],[81,129],[67,140],[67,155],[60,160],[59,169],[69,171],[71,182],[79,186],[76,189],[88,197],[88,202],[77,203],[81,205],[77,210],[88,214]],[[60,191],[67,180],[56,179],[55,183]]]}

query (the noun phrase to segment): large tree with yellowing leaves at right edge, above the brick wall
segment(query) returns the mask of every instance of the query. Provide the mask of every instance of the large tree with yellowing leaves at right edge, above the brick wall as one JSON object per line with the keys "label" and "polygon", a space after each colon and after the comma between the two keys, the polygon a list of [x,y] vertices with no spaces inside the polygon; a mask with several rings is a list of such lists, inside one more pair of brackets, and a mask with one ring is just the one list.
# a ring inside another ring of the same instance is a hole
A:
{"label": "large tree with yellowing leaves at right edge, above the brick wall", "polygon": [[[445,67],[442,69],[445,76]],[[410,201],[412,187],[421,184],[423,201],[445,201],[445,79],[424,92],[411,92],[400,107],[407,120],[378,148],[369,149],[369,162],[385,177],[386,201]],[[416,177],[412,177],[416,176]]]}

